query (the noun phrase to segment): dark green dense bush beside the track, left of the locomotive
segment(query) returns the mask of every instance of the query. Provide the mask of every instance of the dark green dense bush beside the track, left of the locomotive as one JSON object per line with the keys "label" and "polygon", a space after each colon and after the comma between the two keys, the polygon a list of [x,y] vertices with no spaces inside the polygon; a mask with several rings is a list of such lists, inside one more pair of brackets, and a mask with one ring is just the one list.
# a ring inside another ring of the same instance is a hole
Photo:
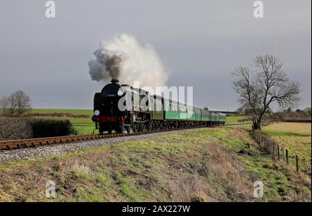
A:
{"label": "dark green dense bush beside the track, left of the locomotive", "polygon": [[31,128],[33,138],[76,134],[69,120],[33,119]]}

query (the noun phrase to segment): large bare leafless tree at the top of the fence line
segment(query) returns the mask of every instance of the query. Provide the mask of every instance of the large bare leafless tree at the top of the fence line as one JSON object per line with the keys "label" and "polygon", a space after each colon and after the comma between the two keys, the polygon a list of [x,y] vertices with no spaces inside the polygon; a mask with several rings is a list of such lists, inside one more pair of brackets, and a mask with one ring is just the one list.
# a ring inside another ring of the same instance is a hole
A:
{"label": "large bare leafless tree at the top of the fence line", "polygon": [[265,114],[272,113],[273,102],[282,109],[297,106],[300,84],[289,80],[282,70],[283,64],[274,55],[256,56],[251,66],[254,71],[244,66],[234,70],[233,88],[241,105],[252,109],[254,129],[261,129],[261,120]]}

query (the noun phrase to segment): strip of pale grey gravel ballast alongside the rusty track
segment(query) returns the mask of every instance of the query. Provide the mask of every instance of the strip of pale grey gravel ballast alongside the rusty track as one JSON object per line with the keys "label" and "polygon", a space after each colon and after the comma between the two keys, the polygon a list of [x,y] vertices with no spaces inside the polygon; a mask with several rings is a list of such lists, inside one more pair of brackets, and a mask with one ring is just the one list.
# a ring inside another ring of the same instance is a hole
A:
{"label": "strip of pale grey gravel ballast alongside the rusty track", "polygon": [[[190,130],[190,129],[187,129]],[[141,134],[135,136],[121,136],[114,138],[103,138],[93,141],[80,141],[76,143],[66,143],[66,144],[55,144],[55,145],[43,145],[40,147],[33,148],[23,148],[17,150],[3,150],[0,151],[0,163],[6,161],[18,161],[21,159],[28,159],[33,157],[44,157],[44,156],[55,156],[66,152],[73,152],[76,150],[83,150],[91,147],[97,147],[105,144],[120,143],[123,141],[131,141],[141,138],[152,138],[155,136],[162,136],[166,134],[173,134],[183,132],[183,130],[172,131],[172,132],[157,132],[151,134]]]}

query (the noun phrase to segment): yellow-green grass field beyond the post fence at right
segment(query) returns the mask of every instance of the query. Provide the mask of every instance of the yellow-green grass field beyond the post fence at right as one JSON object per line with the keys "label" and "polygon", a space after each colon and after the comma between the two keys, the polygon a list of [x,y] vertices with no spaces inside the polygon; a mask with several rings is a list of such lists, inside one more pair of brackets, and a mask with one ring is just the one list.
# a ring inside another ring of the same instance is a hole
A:
{"label": "yellow-green grass field beyond the post fence at right", "polygon": [[311,159],[311,123],[275,123],[263,127],[263,132],[287,148],[290,154]]}

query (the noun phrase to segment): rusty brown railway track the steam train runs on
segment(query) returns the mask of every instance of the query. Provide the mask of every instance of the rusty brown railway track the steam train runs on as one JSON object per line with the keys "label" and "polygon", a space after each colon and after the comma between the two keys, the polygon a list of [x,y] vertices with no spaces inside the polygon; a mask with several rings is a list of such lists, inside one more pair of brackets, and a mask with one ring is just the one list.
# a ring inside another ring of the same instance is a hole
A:
{"label": "rusty brown railway track the steam train runs on", "polygon": [[[227,124],[220,125],[219,127],[230,126],[230,125],[245,125],[250,123],[237,123],[237,124]],[[140,134],[150,134],[157,132],[169,132],[169,131],[177,131],[182,129],[196,129],[201,127],[191,127],[191,128],[181,128],[181,129],[162,129],[155,131],[147,131],[147,132],[134,132],[130,134],[89,134],[89,135],[72,135],[72,136],[55,136],[55,137],[46,137],[46,138],[28,138],[21,140],[13,140],[13,141],[0,141],[0,150],[15,150],[26,147],[38,147],[42,145],[54,145],[54,144],[62,144],[62,143],[73,143],[79,141],[92,141],[96,139],[103,138],[114,138],[120,136],[135,136]]]}

